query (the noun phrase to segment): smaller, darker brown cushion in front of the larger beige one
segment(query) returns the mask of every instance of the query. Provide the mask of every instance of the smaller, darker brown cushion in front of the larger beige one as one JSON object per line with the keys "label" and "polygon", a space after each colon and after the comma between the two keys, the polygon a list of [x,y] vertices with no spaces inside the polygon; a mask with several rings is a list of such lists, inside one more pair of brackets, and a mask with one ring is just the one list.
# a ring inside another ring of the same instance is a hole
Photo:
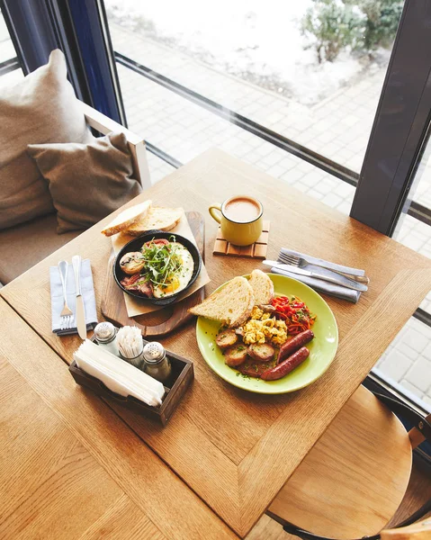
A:
{"label": "smaller, darker brown cushion in front of the larger beige one", "polygon": [[58,233],[87,229],[142,191],[131,177],[124,133],[110,133],[86,145],[29,145],[28,151],[49,183]]}

